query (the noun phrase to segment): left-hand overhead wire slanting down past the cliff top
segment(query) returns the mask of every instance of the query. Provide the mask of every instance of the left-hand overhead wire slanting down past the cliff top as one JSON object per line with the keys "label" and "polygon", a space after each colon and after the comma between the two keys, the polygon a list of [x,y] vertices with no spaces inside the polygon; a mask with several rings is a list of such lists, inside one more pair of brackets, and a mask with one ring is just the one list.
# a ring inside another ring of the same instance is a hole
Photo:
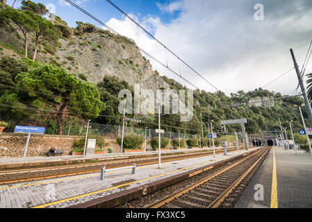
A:
{"label": "left-hand overhead wire slanting down past the cliff top", "polygon": [[[83,8],[77,6],[75,3],[73,3],[72,1],[69,0],[65,0],[68,3],[70,3],[72,6],[74,6],[75,8],[77,8],[78,10],[80,10],[81,12],[85,13],[85,15],[88,15],[89,17],[91,17],[92,19],[94,19],[96,22],[99,22],[99,24],[101,24],[102,26],[104,26],[105,28],[107,28],[109,31],[111,31],[112,33],[115,33],[115,35],[118,35],[120,37],[122,37],[122,35],[120,35],[120,33],[117,33],[117,31],[113,30],[113,28],[110,28],[109,26],[107,26],[104,22],[101,22],[101,20],[97,19],[96,17],[94,17],[93,15],[91,15],[89,12],[85,11]],[[158,62],[160,65],[162,65],[163,67],[165,67],[166,69],[168,69],[169,71],[171,71],[173,74],[175,74],[176,76],[179,76],[180,78],[182,78],[183,80],[185,80],[187,83],[189,83],[190,85],[192,85],[192,87],[195,87],[196,89],[199,89],[199,87],[195,86],[194,84],[190,83],[190,81],[186,80],[186,78],[181,77],[179,74],[176,73],[176,71],[173,71],[172,69],[170,69],[169,67],[167,67],[165,64],[163,64],[163,62],[157,60],[156,58],[154,58],[154,56],[151,56],[149,53],[147,53],[145,50],[141,49],[140,47],[136,46],[136,44],[133,43],[133,46],[135,46],[137,49],[139,49],[142,53],[145,53],[145,55],[149,56],[151,59],[155,60],[156,62]]]}

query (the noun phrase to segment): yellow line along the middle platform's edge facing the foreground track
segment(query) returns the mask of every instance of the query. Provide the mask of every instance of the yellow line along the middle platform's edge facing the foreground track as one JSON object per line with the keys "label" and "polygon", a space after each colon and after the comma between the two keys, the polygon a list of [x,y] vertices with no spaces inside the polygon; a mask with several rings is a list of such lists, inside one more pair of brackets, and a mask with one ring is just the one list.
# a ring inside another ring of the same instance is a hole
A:
{"label": "yellow line along the middle platform's edge facing the foreground track", "polygon": [[[224,159],[225,157],[222,157],[220,158],[220,160]],[[211,161],[215,161],[215,160],[209,160],[208,162],[211,162]],[[58,201],[55,201],[55,202],[51,202],[51,203],[47,203],[47,204],[44,204],[44,205],[38,205],[38,206],[35,206],[35,207],[31,207],[31,208],[42,208],[42,207],[49,207],[51,205],[56,205],[58,203],[63,203],[63,202],[66,202],[66,201],[69,201],[69,200],[74,200],[74,199],[78,199],[78,198],[82,198],[82,197],[85,197],[85,196],[90,196],[90,195],[93,195],[93,194],[99,194],[99,193],[102,193],[104,191],[108,191],[108,190],[111,190],[111,189],[116,189],[118,187],[124,187],[124,186],[127,186],[127,185],[132,185],[134,183],[137,183],[137,182],[142,182],[142,181],[145,181],[145,180],[151,180],[151,179],[154,179],[154,178],[159,178],[161,176],[165,176],[165,175],[168,175],[170,173],[176,173],[176,172],[179,172],[179,171],[183,171],[185,169],[190,169],[192,167],[198,167],[198,166],[201,166],[201,165],[204,165],[204,164],[207,164],[208,162],[204,162],[202,164],[195,164],[191,167],[186,167],[186,168],[183,168],[183,169],[178,169],[176,171],[171,171],[171,172],[168,172],[168,173],[163,173],[161,175],[157,175],[157,176],[152,176],[150,178],[145,178],[145,179],[142,179],[142,180],[136,180],[136,181],[133,181],[133,182],[128,182],[128,183],[125,183],[125,184],[122,184],[122,185],[118,185],[118,186],[115,186],[115,187],[110,187],[110,188],[106,188],[106,189],[101,189],[101,190],[98,190],[98,191],[94,191],[94,192],[91,192],[91,193],[88,193],[88,194],[82,194],[82,195],[79,195],[79,196],[74,196],[74,197],[71,197],[71,198],[67,198],[67,199],[63,199],[63,200],[58,200]]]}

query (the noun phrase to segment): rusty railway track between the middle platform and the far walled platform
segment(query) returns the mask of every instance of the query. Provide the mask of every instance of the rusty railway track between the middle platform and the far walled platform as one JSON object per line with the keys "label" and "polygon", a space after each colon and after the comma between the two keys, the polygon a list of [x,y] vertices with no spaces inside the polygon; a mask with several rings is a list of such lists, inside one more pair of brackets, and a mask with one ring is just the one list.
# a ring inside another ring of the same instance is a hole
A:
{"label": "rusty railway track between the middle platform and the far walled platform", "polygon": [[[236,151],[237,148],[229,148],[228,152]],[[223,153],[223,150],[215,150],[215,153]],[[212,155],[213,151],[204,151],[200,153],[182,153],[165,155],[162,157],[162,162],[170,162],[176,160],[185,160],[195,157],[204,157]],[[43,180],[49,178],[60,178],[66,176],[76,176],[85,173],[95,173],[106,166],[106,169],[115,167],[125,167],[136,163],[137,166],[156,164],[158,157],[140,157],[127,160],[113,160],[105,162],[97,162],[90,164],[72,164],[58,167],[38,167],[31,169],[15,169],[0,171],[0,185],[13,184],[17,182],[28,182],[33,180]]]}

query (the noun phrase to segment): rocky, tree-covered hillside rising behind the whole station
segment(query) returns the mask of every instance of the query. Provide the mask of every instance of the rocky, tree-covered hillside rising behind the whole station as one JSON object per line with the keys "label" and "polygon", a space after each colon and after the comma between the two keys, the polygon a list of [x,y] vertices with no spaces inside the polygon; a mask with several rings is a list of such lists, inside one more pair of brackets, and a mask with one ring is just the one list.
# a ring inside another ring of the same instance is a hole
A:
{"label": "rocky, tree-covered hillside rising behind the whole station", "polygon": [[[4,8],[1,6],[1,8]],[[69,122],[73,123],[72,128],[80,128],[85,119],[91,118],[92,123],[115,125],[121,123],[121,114],[117,111],[120,99],[117,94],[121,89],[133,90],[133,85],[139,83],[141,88],[145,89],[187,89],[185,86],[177,83],[175,80],[165,76],[160,76],[157,71],[153,71],[149,60],[144,58],[136,43],[127,37],[118,37],[117,35],[96,28],[92,24],[83,24],[77,22],[76,28],[69,28],[62,19],[56,17],[54,21],[58,41],[44,42],[39,46],[36,62],[31,62],[34,52],[33,34],[29,34],[28,41],[28,59],[24,56],[24,38],[18,31],[2,24],[0,28],[0,83],[6,85],[0,90],[0,118],[9,123],[7,131],[12,130],[16,123],[35,124],[45,126],[47,133],[56,133],[56,113],[52,109],[60,109],[61,103],[51,99],[40,97],[38,95],[27,93],[21,89],[13,89],[21,83],[17,83],[16,76],[21,76],[25,71],[37,70],[44,65],[63,68],[66,73],[79,78],[81,83],[90,83],[99,93],[99,99],[105,104],[105,108],[97,110],[92,115],[79,112],[80,105],[69,104],[65,111],[74,110],[76,114],[63,113],[62,126],[68,128]],[[39,67],[39,68],[38,68]],[[54,71],[62,69],[54,69]],[[31,71],[32,72],[32,71]],[[33,89],[33,88],[29,88]],[[38,89],[40,90],[40,89]],[[93,89],[92,89],[93,90]],[[94,89],[95,90],[95,89]],[[54,91],[51,91],[54,92]],[[13,96],[14,95],[14,96]],[[54,95],[58,96],[56,92]],[[204,130],[208,129],[208,123],[211,119],[215,130],[221,132],[220,121],[224,119],[247,118],[246,130],[248,133],[258,133],[260,130],[279,130],[278,119],[281,118],[282,125],[289,127],[287,121],[293,121],[295,130],[302,129],[302,123],[299,112],[294,105],[302,103],[302,99],[291,98],[276,101],[272,108],[256,107],[243,105],[237,108],[231,108],[229,105],[244,103],[257,96],[280,97],[277,92],[255,89],[252,92],[237,92],[227,96],[223,92],[205,92],[204,90],[195,90],[194,92],[194,118],[190,122],[179,121],[179,115],[168,115],[161,119],[165,130],[173,132],[191,133],[197,135],[201,133],[201,117]],[[5,105],[11,105],[10,108]],[[35,107],[39,110],[21,110],[13,108],[12,105],[26,105]],[[47,108],[50,110],[47,111]],[[62,110],[63,111],[63,110]],[[304,110],[303,110],[304,111]],[[304,115],[306,113],[304,111]],[[136,118],[138,115],[128,115]],[[127,126],[138,128],[156,128],[157,119],[151,118],[145,121],[127,122]],[[233,133],[234,130],[240,131],[240,126],[229,126],[227,131]],[[64,130],[63,130],[64,131]],[[64,132],[63,132],[64,133]],[[289,132],[288,132],[289,133]],[[206,134],[206,133],[205,133]],[[288,135],[290,137],[290,134]]]}

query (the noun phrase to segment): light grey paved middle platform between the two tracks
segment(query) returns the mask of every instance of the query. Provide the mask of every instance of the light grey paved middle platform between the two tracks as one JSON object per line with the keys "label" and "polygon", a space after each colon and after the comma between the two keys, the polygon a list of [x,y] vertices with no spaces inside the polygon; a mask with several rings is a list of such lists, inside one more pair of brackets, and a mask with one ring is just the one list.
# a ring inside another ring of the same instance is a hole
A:
{"label": "light grey paved middle platform between the two tracks", "polygon": [[[258,148],[252,150],[255,149]],[[107,173],[103,181],[99,180],[99,173],[90,173],[54,180],[2,185],[0,186],[0,207],[38,206],[63,208],[74,206],[125,189],[140,187],[198,167],[204,167],[213,162],[220,162],[249,151],[234,151],[228,153],[227,156],[219,154],[215,158],[209,155],[188,160],[165,162],[162,164],[161,169],[158,169],[158,164],[137,167],[135,174],[131,174],[131,169],[115,171]]]}

